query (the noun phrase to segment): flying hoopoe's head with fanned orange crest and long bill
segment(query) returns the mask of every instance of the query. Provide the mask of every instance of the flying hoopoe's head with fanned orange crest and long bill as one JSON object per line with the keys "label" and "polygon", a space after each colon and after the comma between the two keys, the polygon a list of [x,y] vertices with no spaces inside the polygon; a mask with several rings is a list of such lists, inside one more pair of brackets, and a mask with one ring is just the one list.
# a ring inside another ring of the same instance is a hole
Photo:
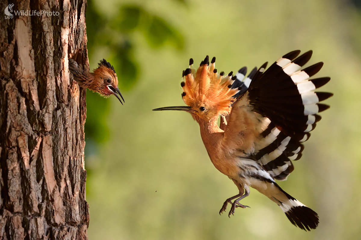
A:
{"label": "flying hoopoe's head with fanned orange crest and long bill", "polygon": [[218,74],[215,68],[216,58],[209,64],[208,55],[201,62],[199,68],[193,68],[193,59],[190,66],[183,71],[182,99],[188,106],[165,107],[153,110],[183,110],[192,114],[197,122],[210,121],[219,115],[226,116],[230,113],[231,104],[235,101],[232,97],[239,92],[238,88],[231,89],[236,79],[230,72]]}

